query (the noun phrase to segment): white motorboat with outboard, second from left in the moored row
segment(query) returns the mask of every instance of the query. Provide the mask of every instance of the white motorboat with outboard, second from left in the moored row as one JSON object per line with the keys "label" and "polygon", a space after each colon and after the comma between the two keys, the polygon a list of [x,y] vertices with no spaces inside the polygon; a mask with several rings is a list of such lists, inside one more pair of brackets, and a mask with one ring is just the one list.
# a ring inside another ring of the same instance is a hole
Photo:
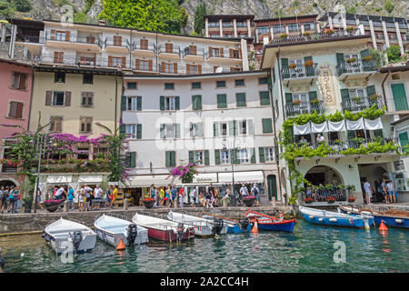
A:
{"label": "white motorboat with outboard, second from left in the moored row", "polygon": [[95,219],[96,236],[115,247],[118,246],[121,239],[125,246],[141,245],[148,242],[145,227],[136,226],[126,219],[115,216],[105,216],[104,214]]}

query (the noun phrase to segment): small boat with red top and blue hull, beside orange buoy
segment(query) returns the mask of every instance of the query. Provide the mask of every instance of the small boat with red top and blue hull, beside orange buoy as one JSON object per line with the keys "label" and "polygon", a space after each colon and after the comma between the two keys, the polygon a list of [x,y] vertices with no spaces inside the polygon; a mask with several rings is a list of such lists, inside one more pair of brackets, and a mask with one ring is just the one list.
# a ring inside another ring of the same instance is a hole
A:
{"label": "small boat with red top and blue hull, beside orange buoy", "polygon": [[295,225],[294,218],[291,220],[285,220],[283,219],[283,216],[281,218],[276,218],[274,216],[267,216],[251,210],[248,210],[245,213],[245,217],[249,219],[255,218],[258,228],[263,230],[292,232]]}

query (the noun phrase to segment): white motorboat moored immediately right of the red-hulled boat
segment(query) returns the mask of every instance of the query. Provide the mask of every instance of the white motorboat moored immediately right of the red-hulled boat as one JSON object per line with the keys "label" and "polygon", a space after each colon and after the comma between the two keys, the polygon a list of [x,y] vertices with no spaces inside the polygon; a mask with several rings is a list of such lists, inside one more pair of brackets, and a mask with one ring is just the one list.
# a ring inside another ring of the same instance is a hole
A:
{"label": "white motorboat moored immediately right of the red-hulled boat", "polygon": [[167,218],[194,227],[195,236],[214,236],[227,233],[227,226],[224,225],[223,219],[220,218],[201,218],[173,211],[169,211]]}

